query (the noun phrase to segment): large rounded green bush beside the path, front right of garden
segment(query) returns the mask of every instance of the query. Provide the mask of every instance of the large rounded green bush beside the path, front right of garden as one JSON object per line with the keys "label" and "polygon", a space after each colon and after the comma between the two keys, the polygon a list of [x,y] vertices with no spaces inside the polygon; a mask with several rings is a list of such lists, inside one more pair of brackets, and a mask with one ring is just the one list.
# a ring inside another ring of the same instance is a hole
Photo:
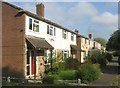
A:
{"label": "large rounded green bush beside the path, front right of garden", "polygon": [[99,78],[100,68],[98,64],[86,63],[82,64],[76,71],[77,78],[80,78],[83,83],[89,83]]}

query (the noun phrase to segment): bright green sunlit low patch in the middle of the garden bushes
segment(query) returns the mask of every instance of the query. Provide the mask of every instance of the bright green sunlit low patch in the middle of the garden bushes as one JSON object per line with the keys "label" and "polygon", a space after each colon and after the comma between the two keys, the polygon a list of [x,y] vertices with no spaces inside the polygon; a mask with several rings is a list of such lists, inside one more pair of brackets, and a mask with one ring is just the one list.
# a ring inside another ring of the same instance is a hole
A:
{"label": "bright green sunlit low patch in the middle of the garden bushes", "polygon": [[75,70],[64,70],[60,71],[59,76],[63,80],[75,80],[77,79],[75,73],[76,73]]}

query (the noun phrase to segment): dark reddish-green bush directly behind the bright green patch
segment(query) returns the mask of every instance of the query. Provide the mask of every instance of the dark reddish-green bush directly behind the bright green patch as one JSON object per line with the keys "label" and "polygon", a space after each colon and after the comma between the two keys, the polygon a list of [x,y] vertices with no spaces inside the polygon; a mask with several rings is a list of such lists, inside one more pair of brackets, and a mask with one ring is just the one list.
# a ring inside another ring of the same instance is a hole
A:
{"label": "dark reddish-green bush directly behind the bright green patch", "polygon": [[66,69],[78,69],[79,61],[76,58],[69,57],[65,60]]}

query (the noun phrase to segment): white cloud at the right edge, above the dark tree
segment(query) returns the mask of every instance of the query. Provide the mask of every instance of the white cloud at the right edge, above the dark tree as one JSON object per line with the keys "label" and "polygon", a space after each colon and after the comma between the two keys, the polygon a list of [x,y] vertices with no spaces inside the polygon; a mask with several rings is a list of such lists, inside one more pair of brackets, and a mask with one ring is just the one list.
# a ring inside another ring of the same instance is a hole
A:
{"label": "white cloud at the right edge, above the dark tree", "polygon": [[113,15],[110,12],[98,14],[92,18],[92,21],[110,30],[116,30],[118,28],[118,15]]}

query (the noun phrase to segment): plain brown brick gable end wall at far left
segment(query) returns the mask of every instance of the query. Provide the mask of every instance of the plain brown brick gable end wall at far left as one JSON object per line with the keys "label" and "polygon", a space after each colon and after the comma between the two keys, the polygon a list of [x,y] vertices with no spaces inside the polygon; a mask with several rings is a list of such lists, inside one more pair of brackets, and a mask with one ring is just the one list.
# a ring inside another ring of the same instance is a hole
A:
{"label": "plain brown brick gable end wall at far left", "polygon": [[25,15],[2,3],[2,76],[24,77]]}

